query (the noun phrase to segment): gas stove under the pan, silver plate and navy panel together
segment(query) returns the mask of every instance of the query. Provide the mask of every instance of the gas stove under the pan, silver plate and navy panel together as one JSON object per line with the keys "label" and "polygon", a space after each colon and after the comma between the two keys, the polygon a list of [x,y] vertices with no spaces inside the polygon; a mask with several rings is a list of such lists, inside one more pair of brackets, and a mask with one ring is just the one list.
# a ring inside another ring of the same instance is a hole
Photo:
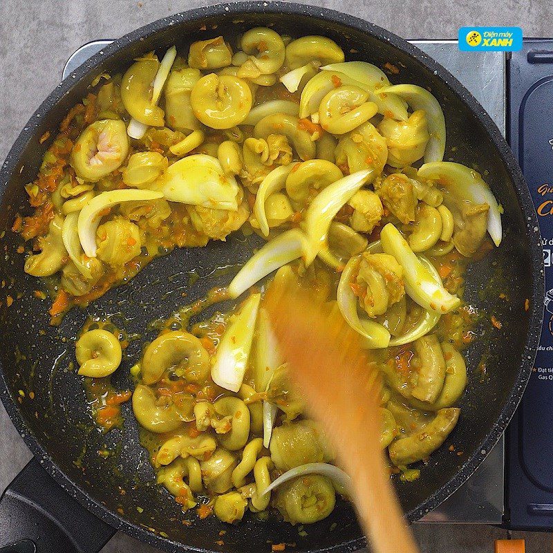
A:
{"label": "gas stove under the pan, silver plate and navy panel together", "polygon": [[[518,53],[460,52],[457,41],[413,40],[476,97],[507,136],[536,203],[546,266],[546,317],[536,367],[514,420],[478,470],[420,523],[475,523],[553,530],[553,41],[527,39]],[[67,77],[111,43],[84,44]],[[548,128],[549,126],[549,128]],[[551,199],[548,199],[551,198]],[[550,290],[551,289],[551,290]]]}

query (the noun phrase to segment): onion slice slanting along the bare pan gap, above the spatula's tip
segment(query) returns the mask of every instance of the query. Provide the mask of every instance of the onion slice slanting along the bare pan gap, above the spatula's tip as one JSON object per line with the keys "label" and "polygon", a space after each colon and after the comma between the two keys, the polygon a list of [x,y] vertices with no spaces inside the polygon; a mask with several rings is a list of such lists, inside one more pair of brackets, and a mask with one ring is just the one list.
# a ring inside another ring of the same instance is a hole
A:
{"label": "onion slice slanting along the bare pan gap, above the spatula's tip", "polygon": [[309,242],[301,230],[290,229],[283,232],[266,243],[241,268],[229,284],[229,296],[237,298],[250,286],[283,265],[299,257],[306,257],[310,252],[309,248]]}

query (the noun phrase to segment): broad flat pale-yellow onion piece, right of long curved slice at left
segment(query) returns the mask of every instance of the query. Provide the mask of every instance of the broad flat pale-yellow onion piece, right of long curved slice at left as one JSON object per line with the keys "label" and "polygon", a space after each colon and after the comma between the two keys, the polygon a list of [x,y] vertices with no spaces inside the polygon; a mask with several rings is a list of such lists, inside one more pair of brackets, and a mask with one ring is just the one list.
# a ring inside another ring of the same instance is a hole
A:
{"label": "broad flat pale-yellow onion piece, right of long curved slice at left", "polygon": [[212,209],[238,209],[240,187],[234,176],[225,176],[217,158],[196,153],[167,167],[163,177],[166,200]]}

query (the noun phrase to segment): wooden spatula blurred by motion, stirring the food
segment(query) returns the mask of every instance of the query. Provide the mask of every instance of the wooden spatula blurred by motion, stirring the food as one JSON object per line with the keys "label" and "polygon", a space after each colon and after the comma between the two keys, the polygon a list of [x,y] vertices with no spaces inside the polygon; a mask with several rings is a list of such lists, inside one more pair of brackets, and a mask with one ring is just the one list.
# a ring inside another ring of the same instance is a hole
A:
{"label": "wooden spatula blurred by motion, stirring the food", "polygon": [[337,308],[292,281],[275,281],[266,297],[290,378],[326,427],[350,475],[357,514],[376,553],[417,553],[379,444],[379,371]]}

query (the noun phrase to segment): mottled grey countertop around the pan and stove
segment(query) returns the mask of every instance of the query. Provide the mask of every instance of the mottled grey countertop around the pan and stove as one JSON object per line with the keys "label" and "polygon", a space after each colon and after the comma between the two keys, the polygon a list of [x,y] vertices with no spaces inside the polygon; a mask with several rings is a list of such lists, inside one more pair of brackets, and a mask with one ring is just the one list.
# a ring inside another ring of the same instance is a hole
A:
{"label": "mottled grey countertop around the pan and stove", "polygon": [[[525,36],[553,35],[549,0],[303,0],[373,21],[405,38],[453,38],[465,25],[518,25]],[[85,42],[116,38],[175,12],[205,6],[191,0],[0,0],[0,161],[46,94],[59,82],[73,51]],[[0,404],[0,491],[19,472],[30,453]],[[480,553],[507,532],[487,526],[415,525],[424,552]],[[550,537],[514,532],[527,539],[527,551],[550,550]],[[153,548],[118,534],[103,553]]]}

